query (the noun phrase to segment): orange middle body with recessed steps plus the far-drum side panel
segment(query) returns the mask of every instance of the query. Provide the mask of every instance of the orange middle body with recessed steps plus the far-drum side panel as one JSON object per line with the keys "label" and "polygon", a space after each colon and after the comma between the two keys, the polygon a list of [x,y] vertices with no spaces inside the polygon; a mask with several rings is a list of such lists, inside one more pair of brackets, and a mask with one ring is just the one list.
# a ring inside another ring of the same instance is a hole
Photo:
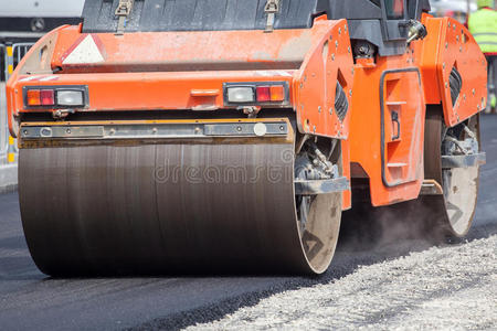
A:
{"label": "orange middle body with recessed steps plus the far-drum side panel", "polygon": [[[369,178],[374,206],[419,196],[424,180],[425,105],[442,104],[448,127],[485,107],[486,62],[473,36],[452,19],[424,15],[423,23],[429,36],[413,42],[405,54],[356,63],[351,162]],[[448,77],[454,66],[463,87],[453,107]]]}

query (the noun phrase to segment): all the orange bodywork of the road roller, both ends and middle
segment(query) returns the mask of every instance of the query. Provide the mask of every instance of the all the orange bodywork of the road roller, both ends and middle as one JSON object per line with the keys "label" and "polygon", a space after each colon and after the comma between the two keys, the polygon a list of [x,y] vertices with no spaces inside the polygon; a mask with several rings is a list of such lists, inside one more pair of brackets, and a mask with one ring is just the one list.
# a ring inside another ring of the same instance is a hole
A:
{"label": "all the orange bodywork of the road roller, both ends and middle", "polygon": [[[115,35],[62,26],[31,49],[8,82],[11,134],[18,135],[23,114],[55,111],[27,107],[23,89],[30,86],[84,85],[88,104],[76,109],[81,113],[187,109],[222,119],[223,110],[233,108],[224,84],[282,83],[288,99],[272,108],[295,113],[303,135],[341,140],[343,175],[369,178],[373,205],[413,200],[424,180],[426,105],[442,104],[447,126],[485,106],[485,58],[467,30],[450,19],[425,15],[423,22],[429,36],[405,54],[356,62],[347,21],[326,17],[311,29],[272,33]],[[453,106],[445,85],[454,65],[464,85]],[[334,109],[337,82],[349,103],[342,119]],[[343,209],[350,206],[346,191]]]}

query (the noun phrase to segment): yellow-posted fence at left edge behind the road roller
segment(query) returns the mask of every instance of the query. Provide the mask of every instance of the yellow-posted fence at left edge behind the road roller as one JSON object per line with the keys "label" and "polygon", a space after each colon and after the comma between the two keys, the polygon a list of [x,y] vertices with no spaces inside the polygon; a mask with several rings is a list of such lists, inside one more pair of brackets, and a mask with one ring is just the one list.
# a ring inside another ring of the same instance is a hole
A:
{"label": "yellow-posted fence at left edge behind the road roller", "polygon": [[6,82],[32,45],[33,43],[0,44],[0,63],[4,70],[1,77],[4,81],[0,79],[0,164],[15,162],[18,152],[15,140],[9,134]]}

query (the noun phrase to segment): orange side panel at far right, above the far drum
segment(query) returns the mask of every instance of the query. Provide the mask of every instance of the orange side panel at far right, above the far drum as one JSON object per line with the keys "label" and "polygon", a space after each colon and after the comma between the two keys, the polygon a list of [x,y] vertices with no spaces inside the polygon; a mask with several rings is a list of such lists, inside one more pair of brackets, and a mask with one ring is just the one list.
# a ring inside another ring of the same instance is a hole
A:
{"label": "orange side panel at far right, above the far drum", "polygon": [[[416,42],[416,57],[422,72],[426,104],[443,105],[445,124],[453,127],[486,106],[487,63],[474,38],[453,19],[423,15],[429,34]],[[463,85],[459,97],[451,97],[450,76],[459,72]]]}

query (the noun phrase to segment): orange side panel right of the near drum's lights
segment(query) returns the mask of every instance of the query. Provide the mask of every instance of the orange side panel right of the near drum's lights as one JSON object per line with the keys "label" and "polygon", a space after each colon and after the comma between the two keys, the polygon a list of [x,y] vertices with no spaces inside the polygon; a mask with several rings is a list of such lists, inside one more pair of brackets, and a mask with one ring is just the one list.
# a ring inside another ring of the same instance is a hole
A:
{"label": "orange side panel right of the near drum's lights", "polygon": [[319,21],[329,26],[326,34],[315,38],[310,51],[295,76],[295,105],[298,130],[303,134],[347,139],[350,116],[340,118],[335,109],[337,82],[352,103],[353,60],[346,20]]}

